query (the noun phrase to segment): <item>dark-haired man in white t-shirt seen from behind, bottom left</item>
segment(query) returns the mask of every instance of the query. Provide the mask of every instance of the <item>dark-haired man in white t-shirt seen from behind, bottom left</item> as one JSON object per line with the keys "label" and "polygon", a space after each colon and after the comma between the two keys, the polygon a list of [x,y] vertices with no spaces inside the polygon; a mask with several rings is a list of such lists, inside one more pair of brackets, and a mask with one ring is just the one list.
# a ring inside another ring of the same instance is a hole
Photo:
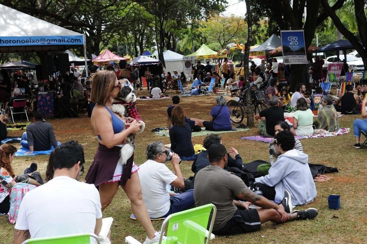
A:
{"label": "dark-haired man in white t-shirt seen from behind, bottom left", "polygon": [[76,141],[68,141],[52,153],[49,164],[54,168],[54,177],[24,196],[15,224],[14,244],[29,238],[79,233],[98,235],[101,231],[98,190],[93,184],[78,181],[84,172],[83,147]]}

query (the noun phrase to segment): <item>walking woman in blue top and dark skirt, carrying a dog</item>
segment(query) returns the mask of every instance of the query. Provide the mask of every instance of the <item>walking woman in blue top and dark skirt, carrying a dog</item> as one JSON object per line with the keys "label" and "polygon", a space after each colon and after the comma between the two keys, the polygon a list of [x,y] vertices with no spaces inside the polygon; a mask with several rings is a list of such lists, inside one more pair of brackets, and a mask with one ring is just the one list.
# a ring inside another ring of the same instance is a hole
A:
{"label": "walking woman in blue top and dark skirt, carrying a dog", "polygon": [[111,111],[112,99],[117,97],[120,89],[121,84],[113,72],[99,71],[93,78],[90,100],[96,105],[92,111],[91,125],[98,137],[98,150],[86,175],[86,183],[98,188],[102,211],[112,202],[121,186],[131,201],[132,212],[147,234],[144,243],[154,243],[159,236],[142,200],[137,173],[139,167],[134,162],[128,167],[129,161],[125,168],[118,163],[121,147],[117,145],[124,144],[130,133],[138,133],[141,126],[134,120],[125,129],[120,115]]}

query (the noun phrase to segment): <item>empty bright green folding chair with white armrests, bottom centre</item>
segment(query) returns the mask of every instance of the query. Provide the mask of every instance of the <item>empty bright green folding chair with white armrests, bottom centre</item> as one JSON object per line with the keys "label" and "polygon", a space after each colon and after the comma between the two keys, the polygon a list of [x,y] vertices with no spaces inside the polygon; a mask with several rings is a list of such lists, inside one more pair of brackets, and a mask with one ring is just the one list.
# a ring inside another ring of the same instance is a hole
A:
{"label": "empty bright green folding chair with white armrests, bottom centre", "polygon": [[[209,230],[207,230],[211,211],[213,214],[211,216]],[[217,208],[214,204],[207,204],[171,214],[162,223],[158,243],[208,244],[215,237],[211,232],[216,214]],[[167,223],[167,238],[165,241],[162,241]],[[125,242],[129,244],[139,243],[131,236],[126,237]]]}

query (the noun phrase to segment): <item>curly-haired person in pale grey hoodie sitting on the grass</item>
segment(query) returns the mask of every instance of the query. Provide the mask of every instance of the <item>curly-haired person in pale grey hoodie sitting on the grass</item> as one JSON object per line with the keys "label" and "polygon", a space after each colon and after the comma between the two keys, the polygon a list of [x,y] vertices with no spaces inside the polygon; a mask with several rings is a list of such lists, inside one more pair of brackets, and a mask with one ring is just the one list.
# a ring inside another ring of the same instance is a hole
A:
{"label": "curly-haired person in pale grey hoodie sitting on the grass", "polygon": [[308,166],[308,155],[294,149],[294,135],[281,131],[275,137],[276,150],[281,154],[269,174],[255,179],[254,185],[264,197],[279,203],[284,191],[291,194],[292,205],[304,205],[316,197],[315,182]]}

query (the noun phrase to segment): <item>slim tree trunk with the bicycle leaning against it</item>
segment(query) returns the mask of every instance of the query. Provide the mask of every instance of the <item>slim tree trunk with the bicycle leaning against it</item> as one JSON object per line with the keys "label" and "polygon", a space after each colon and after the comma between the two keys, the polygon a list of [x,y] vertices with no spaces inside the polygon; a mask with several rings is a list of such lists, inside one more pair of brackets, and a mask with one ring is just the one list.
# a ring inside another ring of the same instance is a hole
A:
{"label": "slim tree trunk with the bicycle leaning against it", "polygon": [[[247,42],[245,44],[245,54],[243,58],[244,62],[244,74],[246,80],[246,86],[250,85],[250,74],[248,72],[248,56],[250,54],[250,46],[252,44],[252,13],[251,13],[251,0],[245,0],[246,2],[246,17],[247,17]],[[254,127],[254,106],[252,106],[251,89],[246,90],[246,104],[247,104],[247,128]]]}

